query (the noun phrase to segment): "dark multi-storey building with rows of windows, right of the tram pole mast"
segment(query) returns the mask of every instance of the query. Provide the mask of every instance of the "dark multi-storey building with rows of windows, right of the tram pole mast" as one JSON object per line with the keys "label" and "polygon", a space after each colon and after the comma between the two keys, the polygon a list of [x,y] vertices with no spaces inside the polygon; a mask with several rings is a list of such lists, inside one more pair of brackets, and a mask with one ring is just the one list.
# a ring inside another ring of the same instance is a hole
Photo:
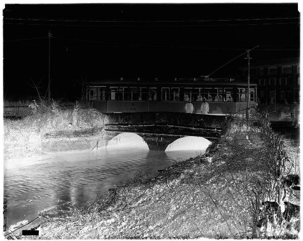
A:
{"label": "dark multi-storey building with rows of windows, right of the tram pole mast", "polygon": [[[247,67],[240,69],[245,80]],[[299,103],[299,57],[259,61],[250,65],[250,82],[258,86],[258,102],[262,104]]]}

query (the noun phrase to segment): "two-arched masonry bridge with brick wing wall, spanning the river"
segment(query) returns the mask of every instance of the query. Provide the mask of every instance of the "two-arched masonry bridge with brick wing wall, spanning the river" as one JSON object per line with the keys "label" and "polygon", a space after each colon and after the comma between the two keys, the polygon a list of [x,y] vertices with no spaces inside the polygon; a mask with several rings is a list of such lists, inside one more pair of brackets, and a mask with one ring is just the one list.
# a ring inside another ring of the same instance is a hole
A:
{"label": "two-arched masonry bridge with brick wing wall, spanning the river", "polygon": [[106,113],[110,124],[104,128],[72,132],[47,133],[42,139],[42,151],[88,150],[107,146],[121,133],[134,133],[149,150],[164,151],[179,138],[204,137],[217,139],[227,121],[224,115],[202,115],[175,112]]}

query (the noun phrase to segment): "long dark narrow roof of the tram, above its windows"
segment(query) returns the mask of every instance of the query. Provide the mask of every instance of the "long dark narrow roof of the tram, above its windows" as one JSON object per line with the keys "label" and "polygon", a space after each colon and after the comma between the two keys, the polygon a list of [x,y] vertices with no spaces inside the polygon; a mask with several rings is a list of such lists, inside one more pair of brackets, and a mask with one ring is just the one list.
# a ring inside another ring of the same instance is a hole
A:
{"label": "long dark narrow roof of the tram, above its windows", "polygon": [[[108,85],[108,84],[135,84],[135,85],[247,85],[246,81],[234,80],[227,78],[214,78],[214,79],[205,79],[205,78],[108,78],[95,81],[89,81],[88,85]],[[251,86],[256,84],[251,83]]]}

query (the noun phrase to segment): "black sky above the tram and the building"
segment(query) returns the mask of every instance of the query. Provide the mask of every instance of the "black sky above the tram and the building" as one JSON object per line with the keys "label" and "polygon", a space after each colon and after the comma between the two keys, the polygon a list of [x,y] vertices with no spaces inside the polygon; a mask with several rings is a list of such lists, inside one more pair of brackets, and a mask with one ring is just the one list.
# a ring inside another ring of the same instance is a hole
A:
{"label": "black sky above the tram and the building", "polygon": [[[81,75],[198,77],[256,45],[252,61],[298,56],[298,17],[297,4],[6,5],[4,95],[35,96],[31,80],[45,91],[48,30],[52,94],[72,98]],[[237,72],[243,57],[213,77]]]}

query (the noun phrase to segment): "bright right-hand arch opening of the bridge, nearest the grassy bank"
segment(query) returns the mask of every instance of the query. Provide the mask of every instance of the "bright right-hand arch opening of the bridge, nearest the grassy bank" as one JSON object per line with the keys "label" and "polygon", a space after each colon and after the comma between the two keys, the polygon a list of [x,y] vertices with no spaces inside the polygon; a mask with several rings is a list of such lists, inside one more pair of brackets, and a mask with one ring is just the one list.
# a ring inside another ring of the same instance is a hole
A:
{"label": "bright right-hand arch opening of the bridge, nearest the grassy bank", "polygon": [[206,150],[211,143],[204,137],[181,137],[169,144],[165,151]]}

